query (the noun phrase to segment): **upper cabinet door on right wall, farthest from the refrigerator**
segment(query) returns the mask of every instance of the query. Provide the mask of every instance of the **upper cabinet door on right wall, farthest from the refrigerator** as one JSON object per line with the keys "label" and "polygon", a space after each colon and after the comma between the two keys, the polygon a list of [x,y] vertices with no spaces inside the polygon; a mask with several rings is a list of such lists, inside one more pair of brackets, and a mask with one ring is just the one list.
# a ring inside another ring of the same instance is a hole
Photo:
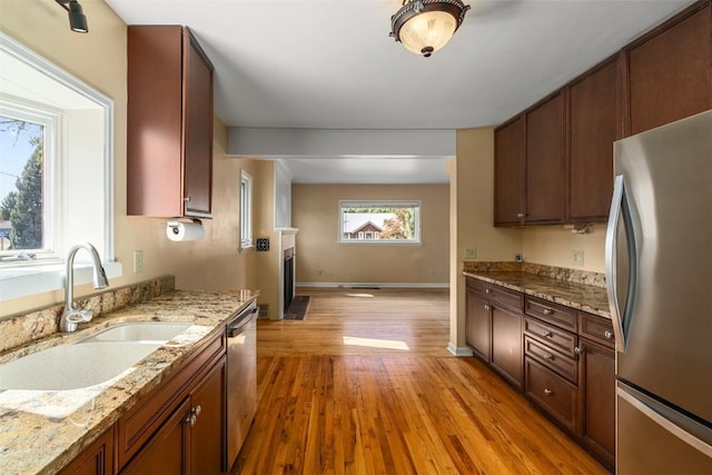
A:
{"label": "upper cabinet door on right wall, farthest from the refrigerator", "polygon": [[524,217],[524,119],[494,132],[494,224],[520,225]]}

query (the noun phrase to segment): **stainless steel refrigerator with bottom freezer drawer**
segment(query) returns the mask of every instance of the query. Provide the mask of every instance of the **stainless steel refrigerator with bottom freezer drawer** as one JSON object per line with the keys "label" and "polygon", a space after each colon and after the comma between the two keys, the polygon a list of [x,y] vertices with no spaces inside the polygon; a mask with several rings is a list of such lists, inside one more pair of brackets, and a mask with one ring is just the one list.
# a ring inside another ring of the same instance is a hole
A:
{"label": "stainless steel refrigerator with bottom freezer drawer", "polygon": [[712,110],[619,140],[616,472],[712,474]]}

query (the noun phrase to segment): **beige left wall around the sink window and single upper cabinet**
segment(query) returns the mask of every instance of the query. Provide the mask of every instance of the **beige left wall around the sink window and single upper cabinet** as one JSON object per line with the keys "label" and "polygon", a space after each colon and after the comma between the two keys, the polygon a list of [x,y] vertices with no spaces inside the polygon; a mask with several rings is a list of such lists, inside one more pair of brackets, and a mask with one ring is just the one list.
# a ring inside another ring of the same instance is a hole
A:
{"label": "beige left wall around the sink window and single upper cabinet", "polygon": [[[116,259],[123,276],[111,286],[176,276],[179,288],[238,289],[256,286],[254,253],[238,254],[238,190],[240,167],[255,174],[254,160],[226,157],[227,130],[216,120],[214,141],[214,219],[204,220],[205,238],[171,243],[166,220],[126,216],[126,24],[103,2],[83,0],[88,34],[69,30],[67,12],[50,0],[0,0],[0,29],[44,58],[65,68],[115,101],[115,231]],[[144,271],[134,274],[132,253],[144,251]],[[77,295],[92,293],[81,286]],[[61,291],[3,301],[1,315],[11,315],[61,301]]]}

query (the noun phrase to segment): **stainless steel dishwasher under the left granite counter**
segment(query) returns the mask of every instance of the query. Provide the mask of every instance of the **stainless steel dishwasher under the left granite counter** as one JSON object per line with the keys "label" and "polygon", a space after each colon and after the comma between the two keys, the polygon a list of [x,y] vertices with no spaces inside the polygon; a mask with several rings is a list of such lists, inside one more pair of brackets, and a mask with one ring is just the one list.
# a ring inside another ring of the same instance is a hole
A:
{"label": "stainless steel dishwasher under the left granite counter", "polygon": [[257,303],[227,325],[227,468],[247,437],[257,408]]}

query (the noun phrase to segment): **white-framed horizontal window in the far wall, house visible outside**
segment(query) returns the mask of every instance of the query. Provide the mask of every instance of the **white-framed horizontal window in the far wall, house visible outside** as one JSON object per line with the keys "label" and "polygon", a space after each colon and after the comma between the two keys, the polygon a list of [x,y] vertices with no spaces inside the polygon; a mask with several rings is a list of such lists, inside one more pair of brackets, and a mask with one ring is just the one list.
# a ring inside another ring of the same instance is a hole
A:
{"label": "white-framed horizontal window in the far wall, house visible outside", "polygon": [[339,201],[339,243],[418,244],[419,201]]}

